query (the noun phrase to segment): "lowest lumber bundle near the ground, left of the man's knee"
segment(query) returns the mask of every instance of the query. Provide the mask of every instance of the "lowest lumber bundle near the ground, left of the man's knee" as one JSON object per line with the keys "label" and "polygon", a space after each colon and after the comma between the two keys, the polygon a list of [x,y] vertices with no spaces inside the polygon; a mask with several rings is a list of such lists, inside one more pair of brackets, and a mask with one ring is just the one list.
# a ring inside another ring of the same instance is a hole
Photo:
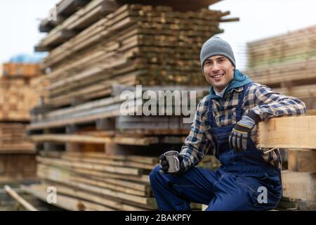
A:
{"label": "lowest lumber bundle near the ground, left of the man's knee", "polygon": [[[57,205],[66,210],[157,210],[148,176],[157,160],[158,156],[41,152],[37,174],[42,182],[23,188],[46,199],[47,188],[55,187]],[[200,166],[216,166],[212,162],[206,156]]]}

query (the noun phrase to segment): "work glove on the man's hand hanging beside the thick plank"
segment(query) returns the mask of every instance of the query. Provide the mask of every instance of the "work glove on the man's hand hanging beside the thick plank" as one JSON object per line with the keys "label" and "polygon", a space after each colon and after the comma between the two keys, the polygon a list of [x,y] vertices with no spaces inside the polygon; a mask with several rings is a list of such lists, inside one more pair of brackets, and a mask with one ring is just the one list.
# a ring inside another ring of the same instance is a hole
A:
{"label": "work glove on the man's hand hanging beside the thick plank", "polygon": [[234,148],[237,151],[246,150],[251,129],[260,121],[261,118],[251,111],[244,115],[242,120],[239,120],[235,127],[232,128],[229,138],[230,148]]}

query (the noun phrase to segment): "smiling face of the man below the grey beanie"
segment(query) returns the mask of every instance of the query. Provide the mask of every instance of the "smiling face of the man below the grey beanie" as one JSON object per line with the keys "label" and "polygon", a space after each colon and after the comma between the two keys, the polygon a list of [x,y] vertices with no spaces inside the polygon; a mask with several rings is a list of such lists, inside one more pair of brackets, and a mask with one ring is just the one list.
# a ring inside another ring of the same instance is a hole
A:
{"label": "smiling face of the man below the grey beanie", "polygon": [[204,75],[206,81],[220,92],[234,77],[234,66],[225,56],[212,56],[205,60]]}

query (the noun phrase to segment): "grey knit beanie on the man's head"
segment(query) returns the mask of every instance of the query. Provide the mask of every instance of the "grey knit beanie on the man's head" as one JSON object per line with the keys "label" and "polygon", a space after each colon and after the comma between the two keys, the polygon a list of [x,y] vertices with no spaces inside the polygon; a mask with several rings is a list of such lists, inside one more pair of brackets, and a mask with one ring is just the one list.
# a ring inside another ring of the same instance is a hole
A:
{"label": "grey knit beanie on the man's head", "polygon": [[232,62],[232,65],[235,66],[235,57],[234,53],[232,52],[232,47],[228,44],[227,41],[224,41],[220,37],[211,37],[202,46],[201,53],[200,53],[200,60],[202,65],[202,70],[204,66],[204,62],[206,59],[210,58],[211,56],[225,56]]}

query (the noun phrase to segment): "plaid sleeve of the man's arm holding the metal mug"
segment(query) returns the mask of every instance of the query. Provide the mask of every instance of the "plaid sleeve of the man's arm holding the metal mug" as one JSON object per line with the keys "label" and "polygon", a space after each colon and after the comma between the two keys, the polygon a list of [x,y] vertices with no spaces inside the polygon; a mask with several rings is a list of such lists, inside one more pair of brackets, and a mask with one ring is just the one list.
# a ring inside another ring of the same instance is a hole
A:
{"label": "plaid sleeve of the man's arm holding the metal mug", "polygon": [[209,101],[206,97],[197,105],[197,112],[191,125],[190,134],[185,139],[179,155],[183,156],[185,170],[197,165],[211,146],[209,124],[206,111],[209,109]]}

